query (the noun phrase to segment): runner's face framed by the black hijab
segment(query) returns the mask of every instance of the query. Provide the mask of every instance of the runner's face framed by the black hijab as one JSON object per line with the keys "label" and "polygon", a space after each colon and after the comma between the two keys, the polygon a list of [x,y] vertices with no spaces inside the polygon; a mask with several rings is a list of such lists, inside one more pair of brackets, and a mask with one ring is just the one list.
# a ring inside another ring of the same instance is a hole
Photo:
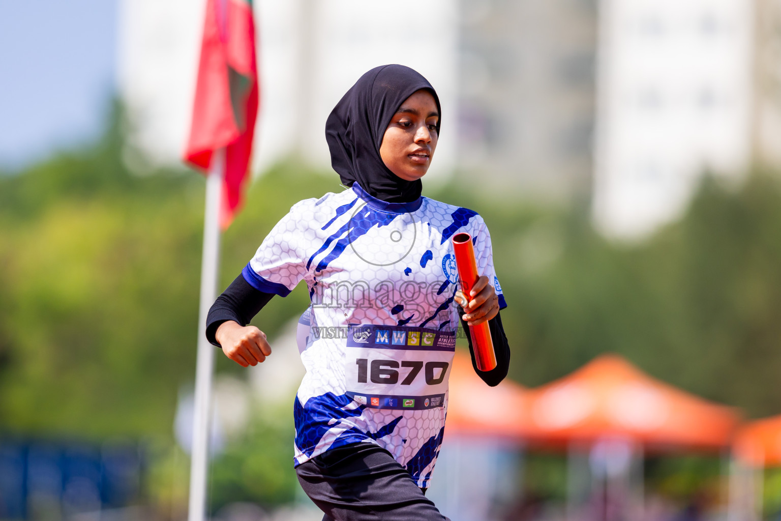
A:
{"label": "runner's face framed by the black hijab", "polygon": [[383,134],[380,157],[403,180],[415,181],[429,170],[437,148],[437,102],[421,89],[401,103]]}

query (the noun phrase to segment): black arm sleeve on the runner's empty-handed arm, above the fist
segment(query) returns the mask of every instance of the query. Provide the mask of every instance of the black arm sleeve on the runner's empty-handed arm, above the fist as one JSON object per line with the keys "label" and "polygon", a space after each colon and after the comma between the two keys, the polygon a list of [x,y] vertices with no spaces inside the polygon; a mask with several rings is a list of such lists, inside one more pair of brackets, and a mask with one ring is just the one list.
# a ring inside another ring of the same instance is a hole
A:
{"label": "black arm sleeve on the runner's empty-handed arm, above the fist", "polygon": [[246,326],[273,296],[273,293],[264,293],[251,287],[240,273],[209,308],[209,315],[206,316],[206,339],[218,348],[221,347],[214,336],[221,323],[234,320]]}

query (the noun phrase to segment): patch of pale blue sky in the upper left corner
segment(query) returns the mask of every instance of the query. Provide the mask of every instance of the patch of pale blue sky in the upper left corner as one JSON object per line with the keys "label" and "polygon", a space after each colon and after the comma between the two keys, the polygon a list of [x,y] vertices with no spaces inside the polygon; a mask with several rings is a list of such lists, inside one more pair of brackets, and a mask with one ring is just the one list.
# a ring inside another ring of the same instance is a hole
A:
{"label": "patch of pale blue sky in the upper left corner", "polygon": [[98,137],[116,84],[116,0],[0,0],[0,168]]}

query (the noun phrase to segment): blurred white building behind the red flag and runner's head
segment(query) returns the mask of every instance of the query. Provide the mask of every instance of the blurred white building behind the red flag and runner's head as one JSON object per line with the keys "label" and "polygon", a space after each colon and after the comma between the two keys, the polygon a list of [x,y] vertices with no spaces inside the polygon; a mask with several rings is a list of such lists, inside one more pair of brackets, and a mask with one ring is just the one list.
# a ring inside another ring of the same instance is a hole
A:
{"label": "blurred white building behind the red flag and runner's head", "polygon": [[[455,107],[455,1],[420,4],[348,0],[255,0],[261,112],[255,170],[297,154],[330,167],[325,122],[333,106],[367,70],[403,63]],[[124,0],[120,14],[119,89],[131,120],[129,162],[177,164],[190,124],[205,0]],[[437,20],[409,23],[410,12]],[[399,20],[405,20],[400,23]],[[432,177],[452,170],[455,109],[442,120]],[[134,154],[134,150],[143,152]]]}

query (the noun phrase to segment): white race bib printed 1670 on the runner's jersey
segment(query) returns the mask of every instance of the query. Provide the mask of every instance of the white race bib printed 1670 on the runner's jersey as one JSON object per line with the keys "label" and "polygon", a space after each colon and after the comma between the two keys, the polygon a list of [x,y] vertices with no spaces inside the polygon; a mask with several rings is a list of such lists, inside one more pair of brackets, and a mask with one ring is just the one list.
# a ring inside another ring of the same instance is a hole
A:
{"label": "white race bib printed 1670 on the runner's jersey", "polygon": [[454,354],[455,331],[350,326],[344,368],[347,394],[374,409],[442,407]]}

